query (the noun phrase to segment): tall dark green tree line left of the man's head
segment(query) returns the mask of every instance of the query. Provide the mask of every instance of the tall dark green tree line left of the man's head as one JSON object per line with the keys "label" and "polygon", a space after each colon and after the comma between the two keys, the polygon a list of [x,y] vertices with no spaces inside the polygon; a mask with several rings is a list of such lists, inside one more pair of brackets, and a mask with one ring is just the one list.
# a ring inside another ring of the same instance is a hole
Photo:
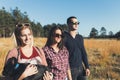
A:
{"label": "tall dark green tree line left of the man's head", "polygon": [[18,7],[6,11],[4,7],[0,9],[0,37],[10,37],[18,23],[30,23],[35,37],[47,37],[48,31],[52,26],[60,26],[63,30],[67,30],[66,24],[48,24],[42,26],[39,22],[31,21],[27,12],[21,12]]}

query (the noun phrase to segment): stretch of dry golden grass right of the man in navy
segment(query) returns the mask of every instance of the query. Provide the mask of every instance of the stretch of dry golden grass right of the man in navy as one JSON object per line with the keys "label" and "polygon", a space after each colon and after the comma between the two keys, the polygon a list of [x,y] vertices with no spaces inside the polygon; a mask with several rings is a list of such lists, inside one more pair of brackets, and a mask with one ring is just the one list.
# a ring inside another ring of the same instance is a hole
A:
{"label": "stretch of dry golden grass right of the man in navy", "polygon": [[92,79],[120,80],[120,41],[86,39]]}

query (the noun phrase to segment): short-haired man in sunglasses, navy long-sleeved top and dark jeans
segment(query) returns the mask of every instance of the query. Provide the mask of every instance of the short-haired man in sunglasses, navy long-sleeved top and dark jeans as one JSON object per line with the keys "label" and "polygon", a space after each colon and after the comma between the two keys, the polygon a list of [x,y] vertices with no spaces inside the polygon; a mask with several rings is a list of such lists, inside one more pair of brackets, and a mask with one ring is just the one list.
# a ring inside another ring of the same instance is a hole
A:
{"label": "short-haired man in sunglasses, navy long-sleeved top and dark jeans", "polygon": [[69,51],[72,80],[86,80],[90,75],[83,37],[77,33],[79,22],[75,16],[67,19],[69,32],[65,32],[65,46]]}

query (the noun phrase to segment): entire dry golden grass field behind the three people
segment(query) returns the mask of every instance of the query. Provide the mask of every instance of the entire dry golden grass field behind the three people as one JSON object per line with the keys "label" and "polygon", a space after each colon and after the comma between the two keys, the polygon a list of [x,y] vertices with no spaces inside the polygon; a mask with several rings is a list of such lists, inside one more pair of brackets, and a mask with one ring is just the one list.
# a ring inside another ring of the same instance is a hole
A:
{"label": "entire dry golden grass field behind the three people", "polygon": [[[34,45],[43,47],[46,38],[35,38]],[[15,47],[13,38],[0,38],[0,74],[6,53]],[[89,80],[120,80],[120,41],[85,39],[91,75]]]}

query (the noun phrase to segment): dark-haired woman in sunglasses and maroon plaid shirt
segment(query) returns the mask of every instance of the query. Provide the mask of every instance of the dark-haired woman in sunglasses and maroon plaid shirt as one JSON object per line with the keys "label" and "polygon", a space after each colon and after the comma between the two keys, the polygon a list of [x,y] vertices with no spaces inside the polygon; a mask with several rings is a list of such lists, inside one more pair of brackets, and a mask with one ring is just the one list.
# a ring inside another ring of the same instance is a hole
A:
{"label": "dark-haired woman in sunglasses and maroon plaid shirt", "polygon": [[57,26],[52,27],[43,51],[54,75],[53,80],[72,80],[68,61],[69,53],[63,42],[62,29]]}

